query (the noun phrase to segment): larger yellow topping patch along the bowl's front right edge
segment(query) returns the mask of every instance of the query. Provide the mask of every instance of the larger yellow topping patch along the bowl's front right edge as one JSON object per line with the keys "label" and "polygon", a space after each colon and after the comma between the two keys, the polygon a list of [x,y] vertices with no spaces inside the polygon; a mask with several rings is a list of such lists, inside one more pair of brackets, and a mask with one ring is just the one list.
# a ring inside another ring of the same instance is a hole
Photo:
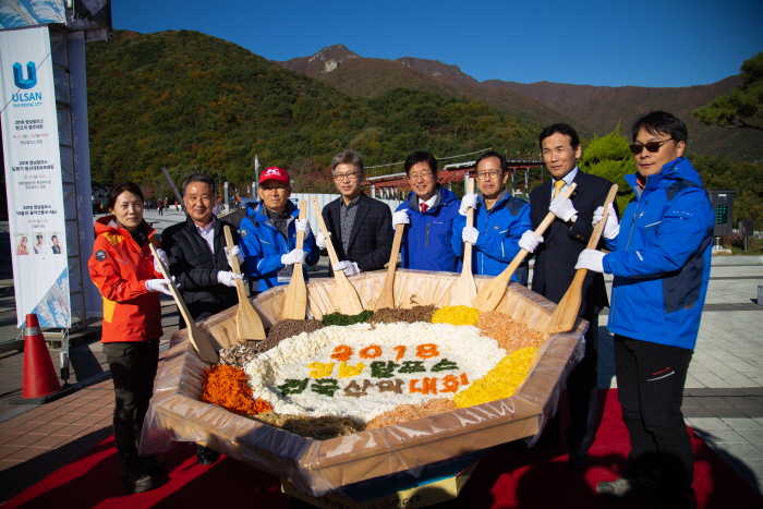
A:
{"label": "larger yellow topping patch along the bowl's front right edge", "polygon": [[537,350],[528,347],[509,353],[487,375],[453,396],[453,403],[463,409],[512,396],[526,378]]}

